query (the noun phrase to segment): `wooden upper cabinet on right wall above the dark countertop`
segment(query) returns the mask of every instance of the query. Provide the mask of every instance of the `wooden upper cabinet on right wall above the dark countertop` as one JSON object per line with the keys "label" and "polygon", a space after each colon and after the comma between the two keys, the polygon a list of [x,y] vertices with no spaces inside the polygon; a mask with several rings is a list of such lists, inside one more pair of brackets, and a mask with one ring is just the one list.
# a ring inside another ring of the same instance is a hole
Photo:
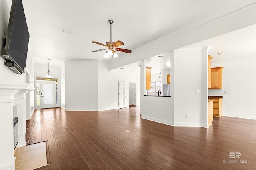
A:
{"label": "wooden upper cabinet on right wall above the dark countertop", "polygon": [[209,89],[222,89],[223,67],[211,68],[211,87]]}

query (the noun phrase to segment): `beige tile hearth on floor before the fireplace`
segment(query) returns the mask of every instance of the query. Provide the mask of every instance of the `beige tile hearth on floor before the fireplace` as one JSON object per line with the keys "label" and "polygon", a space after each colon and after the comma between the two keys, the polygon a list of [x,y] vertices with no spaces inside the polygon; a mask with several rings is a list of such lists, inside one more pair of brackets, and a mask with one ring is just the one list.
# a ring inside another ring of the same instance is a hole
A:
{"label": "beige tile hearth on floor before the fireplace", "polygon": [[17,149],[15,170],[33,170],[47,165],[46,142],[30,144]]}

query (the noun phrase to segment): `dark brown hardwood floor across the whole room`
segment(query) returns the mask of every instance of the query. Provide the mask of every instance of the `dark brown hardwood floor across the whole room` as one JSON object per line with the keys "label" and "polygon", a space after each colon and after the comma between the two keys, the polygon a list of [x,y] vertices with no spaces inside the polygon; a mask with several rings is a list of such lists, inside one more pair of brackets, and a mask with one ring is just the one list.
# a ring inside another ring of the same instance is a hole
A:
{"label": "dark brown hardwood floor across the whole room", "polygon": [[210,128],[172,127],[130,107],[36,109],[28,123],[27,144],[48,140],[46,169],[256,170],[256,120],[223,116]]}

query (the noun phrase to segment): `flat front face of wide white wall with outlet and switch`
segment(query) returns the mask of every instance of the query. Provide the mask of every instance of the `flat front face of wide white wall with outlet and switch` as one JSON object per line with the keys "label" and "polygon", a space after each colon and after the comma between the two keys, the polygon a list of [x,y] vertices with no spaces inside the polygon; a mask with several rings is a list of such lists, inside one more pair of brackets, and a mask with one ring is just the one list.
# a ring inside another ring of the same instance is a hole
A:
{"label": "flat front face of wide white wall with outlet and switch", "polygon": [[[202,89],[201,49],[174,50],[174,123],[200,126]],[[185,118],[188,114],[188,118]]]}

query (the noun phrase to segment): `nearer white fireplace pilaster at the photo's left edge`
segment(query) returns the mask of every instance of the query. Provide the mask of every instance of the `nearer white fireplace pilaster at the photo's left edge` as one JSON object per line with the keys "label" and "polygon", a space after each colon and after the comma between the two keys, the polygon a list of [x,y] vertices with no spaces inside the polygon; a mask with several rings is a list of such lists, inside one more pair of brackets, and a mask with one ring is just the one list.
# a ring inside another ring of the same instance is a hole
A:
{"label": "nearer white fireplace pilaster at the photo's left edge", "polygon": [[14,170],[13,106],[19,89],[0,89],[0,169]]}

